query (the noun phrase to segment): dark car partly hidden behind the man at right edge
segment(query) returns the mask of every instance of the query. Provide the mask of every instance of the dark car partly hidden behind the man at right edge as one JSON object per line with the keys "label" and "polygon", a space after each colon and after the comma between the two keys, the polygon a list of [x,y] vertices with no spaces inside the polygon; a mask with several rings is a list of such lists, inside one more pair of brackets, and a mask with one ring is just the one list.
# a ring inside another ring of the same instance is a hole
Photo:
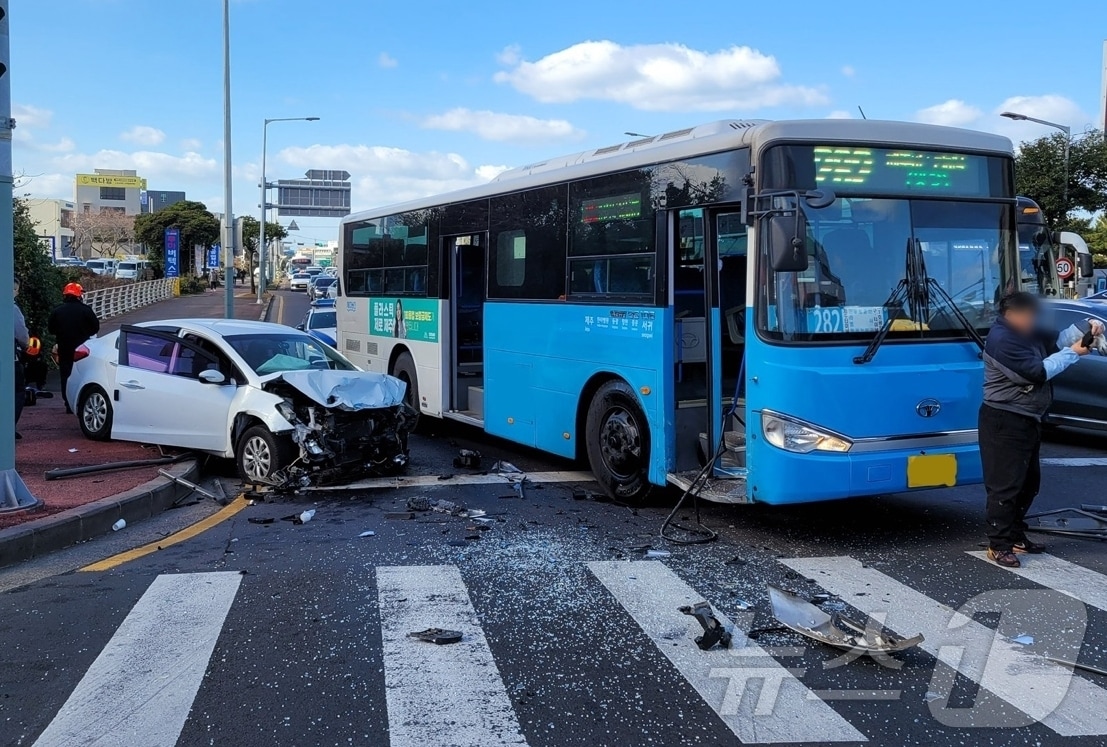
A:
{"label": "dark car partly hidden behind the man at right edge", "polygon": [[[1107,303],[1103,301],[1051,301],[1046,309],[1053,317],[1051,326],[1057,330],[1086,319],[1107,324]],[[1093,349],[1053,380],[1053,406],[1046,423],[1107,430],[1107,356]]]}

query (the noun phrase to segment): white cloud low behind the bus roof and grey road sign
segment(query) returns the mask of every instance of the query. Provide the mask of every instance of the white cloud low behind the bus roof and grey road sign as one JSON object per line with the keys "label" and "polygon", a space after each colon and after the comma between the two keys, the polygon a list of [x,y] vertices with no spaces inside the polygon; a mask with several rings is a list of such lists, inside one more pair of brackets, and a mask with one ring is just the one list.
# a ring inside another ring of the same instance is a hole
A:
{"label": "white cloud low behind the bus roof and grey road sign", "polygon": [[298,169],[350,172],[355,210],[470,187],[507,168],[473,166],[456,153],[420,153],[381,145],[292,147],[281,151],[277,158]]}

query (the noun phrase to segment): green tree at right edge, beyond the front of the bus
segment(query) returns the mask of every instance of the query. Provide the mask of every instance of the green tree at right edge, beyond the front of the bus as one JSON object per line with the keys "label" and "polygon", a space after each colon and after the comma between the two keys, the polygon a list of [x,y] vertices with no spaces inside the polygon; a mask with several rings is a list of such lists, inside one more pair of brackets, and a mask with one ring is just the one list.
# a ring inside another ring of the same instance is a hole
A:
{"label": "green tree at right edge, beyond the front of the bus", "polygon": [[1097,131],[1073,137],[1069,148],[1068,205],[1065,205],[1065,135],[1023,143],[1015,158],[1015,189],[1042,207],[1054,230],[1079,231],[1074,210],[1107,209],[1107,142]]}

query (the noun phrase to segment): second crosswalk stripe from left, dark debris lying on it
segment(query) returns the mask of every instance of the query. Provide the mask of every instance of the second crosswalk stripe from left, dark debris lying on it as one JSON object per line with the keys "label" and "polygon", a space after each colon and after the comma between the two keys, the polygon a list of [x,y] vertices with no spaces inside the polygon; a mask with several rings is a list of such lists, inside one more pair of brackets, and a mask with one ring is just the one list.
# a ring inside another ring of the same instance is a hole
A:
{"label": "second crosswalk stripe from left, dark debris lying on it", "polygon": [[[392,747],[517,747],[526,739],[456,566],[376,569]],[[407,637],[461,631],[461,643]]]}

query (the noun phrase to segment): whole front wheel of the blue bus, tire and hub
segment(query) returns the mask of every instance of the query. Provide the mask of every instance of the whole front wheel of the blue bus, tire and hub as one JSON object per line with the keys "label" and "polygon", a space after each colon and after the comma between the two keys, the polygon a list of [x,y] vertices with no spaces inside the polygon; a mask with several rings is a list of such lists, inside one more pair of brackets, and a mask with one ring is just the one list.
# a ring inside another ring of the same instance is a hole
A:
{"label": "whole front wheel of the blue bus, tire and hub", "polygon": [[639,501],[650,492],[650,426],[625,382],[600,387],[588,407],[588,461],[612,498]]}

